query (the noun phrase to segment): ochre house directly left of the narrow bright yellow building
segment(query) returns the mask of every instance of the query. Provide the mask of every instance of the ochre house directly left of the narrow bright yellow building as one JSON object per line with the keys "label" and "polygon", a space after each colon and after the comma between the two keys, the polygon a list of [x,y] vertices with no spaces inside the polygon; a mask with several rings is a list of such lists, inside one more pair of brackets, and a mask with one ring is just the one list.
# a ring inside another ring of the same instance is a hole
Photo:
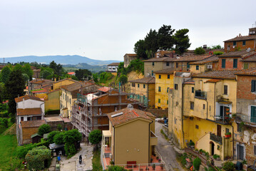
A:
{"label": "ochre house directly left of the narrow bright yellow building", "polygon": [[130,98],[140,101],[143,106],[155,108],[155,78],[144,77],[129,81]]}

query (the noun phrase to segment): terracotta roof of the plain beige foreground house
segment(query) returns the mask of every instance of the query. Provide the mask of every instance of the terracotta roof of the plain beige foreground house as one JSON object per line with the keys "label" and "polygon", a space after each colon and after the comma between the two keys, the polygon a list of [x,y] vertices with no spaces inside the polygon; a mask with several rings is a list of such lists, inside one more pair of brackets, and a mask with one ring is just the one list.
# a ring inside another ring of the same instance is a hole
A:
{"label": "terracotta roof of the plain beige foreground house", "polygon": [[[115,115],[117,113],[123,113],[122,115],[118,115],[116,117],[111,117],[111,115]],[[127,123],[130,120],[135,120],[137,118],[143,118],[149,121],[153,121],[150,117],[155,118],[155,116],[151,113],[145,112],[143,110],[138,110],[138,109],[129,109],[129,108],[123,108],[121,110],[118,110],[113,113],[108,113],[108,119],[111,121],[111,124],[113,127],[117,125],[121,125],[123,123]]]}

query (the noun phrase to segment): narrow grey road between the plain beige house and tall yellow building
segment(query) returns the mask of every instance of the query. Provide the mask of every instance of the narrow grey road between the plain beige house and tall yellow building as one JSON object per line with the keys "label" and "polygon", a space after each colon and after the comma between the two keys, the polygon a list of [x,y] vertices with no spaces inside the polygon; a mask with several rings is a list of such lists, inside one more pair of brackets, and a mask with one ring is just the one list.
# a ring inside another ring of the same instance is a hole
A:
{"label": "narrow grey road between the plain beige house and tall yellow building", "polygon": [[156,145],[156,150],[158,150],[162,156],[162,159],[166,165],[166,170],[183,171],[183,167],[181,167],[179,162],[176,160],[176,152],[173,145],[165,140],[163,134],[160,133],[162,125],[163,124],[161,123],[155,122],[155,134],[158,136],[158,145]]}

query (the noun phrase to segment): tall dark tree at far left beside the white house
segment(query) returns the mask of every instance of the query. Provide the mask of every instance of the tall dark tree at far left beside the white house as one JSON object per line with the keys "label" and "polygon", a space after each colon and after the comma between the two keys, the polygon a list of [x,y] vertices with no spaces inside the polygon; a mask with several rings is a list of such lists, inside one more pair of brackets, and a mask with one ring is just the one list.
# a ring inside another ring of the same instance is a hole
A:
{"label": "tall dark tree at far left beside the white house", "polygon": [[[9,80],[5,83],[6,92],[8,93],[9,98],[9,113],[12,113],[12,117],[14,118],[14,115],[16,113],[16,103],[14,98],[17,98],[18,95],[22,96],[24,95],[24,88],[25,88],[25,81],[23,79],[23,76],[21,74],[20,70],[14,70],[11,72]],[[15,118],[14,118],[15,119]]]}

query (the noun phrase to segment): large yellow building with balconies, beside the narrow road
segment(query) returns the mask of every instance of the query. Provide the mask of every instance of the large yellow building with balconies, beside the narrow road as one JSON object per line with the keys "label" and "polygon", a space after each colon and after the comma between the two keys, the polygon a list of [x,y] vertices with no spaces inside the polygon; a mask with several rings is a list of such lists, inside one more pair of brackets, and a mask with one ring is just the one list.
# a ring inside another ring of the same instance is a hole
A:
{"label": "large yellow building with balconies, beside the narrow road", "polygon": [[[233,155],[231,113],[236,112],[235,73],[210,71],[192,78],[175,73],[173,92],[169,99],[169,135],[180,148],[195,148],[222,160]],[[231,133],[231,138],[225,138]]]}

